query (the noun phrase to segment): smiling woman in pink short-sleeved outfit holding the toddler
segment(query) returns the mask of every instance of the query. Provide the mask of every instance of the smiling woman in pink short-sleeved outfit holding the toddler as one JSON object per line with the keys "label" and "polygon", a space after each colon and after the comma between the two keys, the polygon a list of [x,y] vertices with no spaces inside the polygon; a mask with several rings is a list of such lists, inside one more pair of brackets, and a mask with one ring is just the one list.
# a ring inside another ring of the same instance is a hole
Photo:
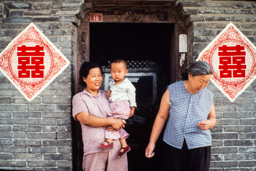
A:
{"label": "smiling woman in pink short-sleeved outfit holding the toddler", "polygon": [[128,134],[121,119],[107,118],[111,112],[106,91],[99,90],[102,84],[101,67],[95,62],[84,62],[79,71],[79,84],[85,89],[73,97],[73,117],[81,123],[84,143],[83,171],[128,171],[127,155],[118,159],[119,140],[113,148],[102,150],[98,146],[105,140],[105,127],[110,131],[120,130],[121,138]]}

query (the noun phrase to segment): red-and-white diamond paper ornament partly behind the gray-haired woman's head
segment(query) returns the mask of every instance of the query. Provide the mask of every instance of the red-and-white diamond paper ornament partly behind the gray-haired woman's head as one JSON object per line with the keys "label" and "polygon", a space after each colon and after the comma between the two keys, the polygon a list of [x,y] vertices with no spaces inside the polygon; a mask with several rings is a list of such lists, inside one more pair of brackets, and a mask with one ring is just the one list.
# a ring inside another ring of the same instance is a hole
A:
{"label": "red-and-white diamond paper ornament partly behind the gray-haired woman's head", "polygon": [[232,102],[256,79],[256,47],[233,23],[209,43],[196,61],[209,63],[213,70],[211,81]]}

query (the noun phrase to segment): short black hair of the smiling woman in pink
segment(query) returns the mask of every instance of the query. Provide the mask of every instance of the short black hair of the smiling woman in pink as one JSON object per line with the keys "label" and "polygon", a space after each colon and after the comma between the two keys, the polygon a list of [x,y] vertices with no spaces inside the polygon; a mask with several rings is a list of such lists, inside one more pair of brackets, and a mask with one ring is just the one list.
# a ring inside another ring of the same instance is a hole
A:
{"label": "short black hair of the smiling woman in pink", "polygon": [[99,68],[102,72],[101,65],[95,61],[84,62],[84,64],[81,65],[79,70],[79,85],[86,87],[86,82],[84,82],[83,77],[87,78],[90,70],[93,68]]}

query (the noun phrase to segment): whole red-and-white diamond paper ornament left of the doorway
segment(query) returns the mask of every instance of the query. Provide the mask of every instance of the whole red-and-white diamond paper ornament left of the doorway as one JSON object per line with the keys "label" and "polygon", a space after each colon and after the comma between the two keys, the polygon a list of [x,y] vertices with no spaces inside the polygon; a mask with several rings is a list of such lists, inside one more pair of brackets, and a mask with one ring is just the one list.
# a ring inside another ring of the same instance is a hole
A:
{"label": "whole red-and-white diamond paper ornament left of the doorway", "polygon": [[0,53],[0,71],[32,101],[70,61],[31,23]]}

